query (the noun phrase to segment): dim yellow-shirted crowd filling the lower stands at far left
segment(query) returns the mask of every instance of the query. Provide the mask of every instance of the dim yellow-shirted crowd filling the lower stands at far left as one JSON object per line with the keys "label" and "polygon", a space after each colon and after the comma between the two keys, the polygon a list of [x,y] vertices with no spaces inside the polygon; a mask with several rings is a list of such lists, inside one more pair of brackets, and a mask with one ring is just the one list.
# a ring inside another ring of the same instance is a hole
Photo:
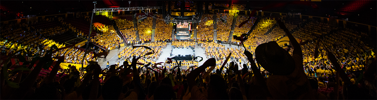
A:
{"label": "dim yellow-shirted crowd filling the lower stands at far left", "polygon": [[[0,39],[0,45],[2,46],[2,55],[10,55],[19,50],[26,50],[29,49],[28,54],[32,55],[40,55],[43,57],[48,53],[51,46],[55,45],[57,48],[63,48],[66,45],[60,44],[55,42],[54,40],[46,39],[42,36],[51,36],[64,33],[67,31],[67,28],[64,27],[54,27],[54,28],[46,28],[46,29],[37,29],[37,30],[27,30],[28,28],[25,27],[32,27],[23,25],[21,27],[15,27],[13,25],[3,26],[1,27],[1,36],[6,38]],[[12,30],[13,29],[13,30]],[[26,29],[26,30],[25,30]],[[21,36],[21,37],[20,37]],[[32,55],[28,55],[32,57]],[[63,56],[64,63],[75,63],[81,64],[81,60],[84,55],[84,51],[75,48],[67,48],[63,49],[59,52],[52,54],[53,57]],[[92,61],[92,54],[87,55],[86,60]],[[85,60],[84,64],[88,64]],[[55,59],[57,61],[57,59]]]}

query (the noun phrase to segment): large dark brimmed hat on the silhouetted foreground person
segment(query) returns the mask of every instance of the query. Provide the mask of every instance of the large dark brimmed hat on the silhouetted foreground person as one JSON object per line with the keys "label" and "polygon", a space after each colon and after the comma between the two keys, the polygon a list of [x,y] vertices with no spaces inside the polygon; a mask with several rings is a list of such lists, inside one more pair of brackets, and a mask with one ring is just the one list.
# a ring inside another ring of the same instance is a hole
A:
{"label": "large dark brimmed hat on the silhouetted foreground person", "polygon": [[257,46],[255,59],[265,70],[274,75],[289,75],[295,68],[292,56],[275,41]]}

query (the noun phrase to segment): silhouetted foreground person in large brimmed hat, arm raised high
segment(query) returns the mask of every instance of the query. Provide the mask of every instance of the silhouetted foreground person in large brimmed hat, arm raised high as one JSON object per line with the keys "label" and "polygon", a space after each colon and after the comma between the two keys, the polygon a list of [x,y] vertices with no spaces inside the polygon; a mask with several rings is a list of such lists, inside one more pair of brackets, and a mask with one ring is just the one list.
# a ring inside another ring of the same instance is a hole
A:
{"label": "silhouetted foreground person in large brimmed hat, arm raised high", "polygon": [[315,99],[314,91],[303,71],[302,51],[299,43],[285,27],[277,21],[293,46],[292,56],[275,41],[262,43],[255,49],[257,62],[269,73],[267,87],[273,99],[311,100]]}

